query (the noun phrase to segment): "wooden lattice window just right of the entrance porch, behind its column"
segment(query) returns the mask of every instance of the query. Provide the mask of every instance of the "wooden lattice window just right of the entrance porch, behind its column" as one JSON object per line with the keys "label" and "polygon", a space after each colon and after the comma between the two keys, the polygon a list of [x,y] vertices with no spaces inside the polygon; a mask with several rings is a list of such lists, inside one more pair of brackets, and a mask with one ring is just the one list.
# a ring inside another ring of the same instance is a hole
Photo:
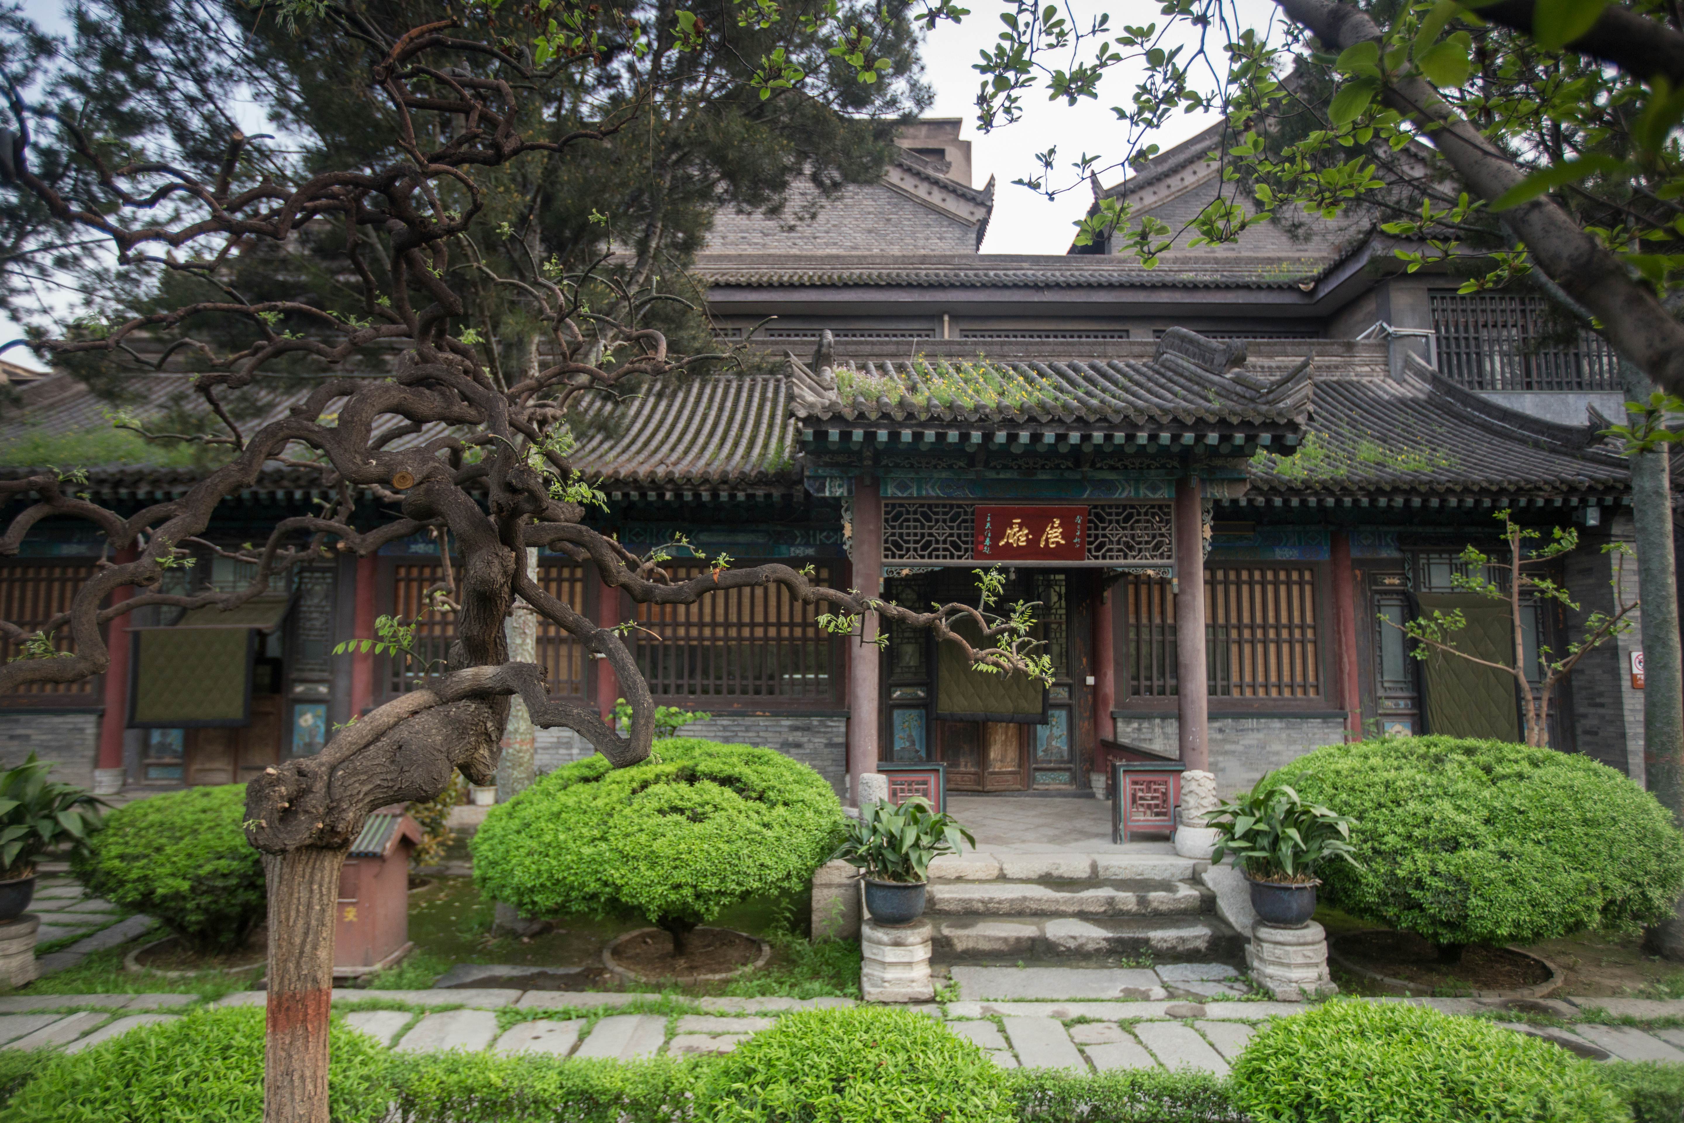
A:
{"label": "wooden lattice window just right of the entrance porch, behind its column", "polygon": [[[1130,574],[1123,611],[1128,694],[1174,695],[1170,583]],[[1312,566],[1211,566],[1204,571],[1204,620],[1206,687],[1212,697],[1320,697],[1320,613]]]}

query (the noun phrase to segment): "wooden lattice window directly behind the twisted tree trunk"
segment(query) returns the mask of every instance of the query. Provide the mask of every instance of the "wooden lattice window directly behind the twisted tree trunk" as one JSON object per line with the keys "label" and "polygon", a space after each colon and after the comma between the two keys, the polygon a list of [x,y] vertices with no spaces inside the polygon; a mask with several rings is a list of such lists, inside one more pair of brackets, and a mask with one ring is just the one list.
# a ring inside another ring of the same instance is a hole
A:
{"label": "wooden lattice window directly behind the twisted tree trunk", "polygon": [[[445,567],[433,561],[402,561],[392,567],[392,615],[413,621],[421,615],[429,588],[443,579]],[[539,584],[556,599],[584,615],[584,586],[588,569],[571,561],[539,559]],[[416,652],[423,660],[443,660],[456,635],[456,615],[451,611],[428,613],[416,628]],[[547,668],[546,687],[551,697],[581,699],[586,692],[589,655],[584,645],[561,630],[559,625],[539,618],[537,662]],[[440,665],[433,665],[433,673]],[[399,665],[387,660],[387,689],[392,694],[413,690],[424,682],[416,662]]]}

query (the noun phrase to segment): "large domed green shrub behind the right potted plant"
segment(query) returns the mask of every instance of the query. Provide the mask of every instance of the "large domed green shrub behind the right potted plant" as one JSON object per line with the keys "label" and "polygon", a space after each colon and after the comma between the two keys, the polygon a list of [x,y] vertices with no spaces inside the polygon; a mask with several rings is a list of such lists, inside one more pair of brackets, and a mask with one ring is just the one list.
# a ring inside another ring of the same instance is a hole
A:
{"label": "large domed green shrub behind the right potted plant", "polygon": [[1362,867],[1327,867],[1325,896],[1442,946],[1628,931],[1671,916],[1684,886],[1672,815],[1588,756],[1381,737],[1317,749],[1276,778],[1356,820]]}

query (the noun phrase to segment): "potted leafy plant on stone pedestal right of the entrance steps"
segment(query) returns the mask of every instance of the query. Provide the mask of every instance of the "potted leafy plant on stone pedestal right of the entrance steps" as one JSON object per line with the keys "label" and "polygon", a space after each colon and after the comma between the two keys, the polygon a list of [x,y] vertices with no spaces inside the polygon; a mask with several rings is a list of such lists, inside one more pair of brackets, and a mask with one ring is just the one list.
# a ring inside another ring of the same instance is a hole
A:
{"label": "potted leafy plant on stone pedestal right of the entrance steps", "polygon": [[1315,916],[1315,867],[1332,857],[1352,865],[1356,820],[1298,798],[1270,773],[1251,791],[1223,803],[1207,825],[1216,828],[1212,862],[1233,854],[1251,882],[1251,907],[1265,924],[1300,928]]}

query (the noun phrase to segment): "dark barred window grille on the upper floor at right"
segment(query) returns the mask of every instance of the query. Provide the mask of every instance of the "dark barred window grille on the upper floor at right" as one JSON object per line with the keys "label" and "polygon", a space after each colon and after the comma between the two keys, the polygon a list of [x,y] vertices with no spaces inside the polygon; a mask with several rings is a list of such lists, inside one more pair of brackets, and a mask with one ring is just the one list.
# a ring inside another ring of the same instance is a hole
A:
{"label": "dark barred window grille on the upper floor at right", "polygon": [[[1430,293],[1438,370],[1470,391],[1618,391],[1613,349],[1595,332],[1551,342],[1543,296]],[[1559,332],[1556,332],[1559,335]]]}

